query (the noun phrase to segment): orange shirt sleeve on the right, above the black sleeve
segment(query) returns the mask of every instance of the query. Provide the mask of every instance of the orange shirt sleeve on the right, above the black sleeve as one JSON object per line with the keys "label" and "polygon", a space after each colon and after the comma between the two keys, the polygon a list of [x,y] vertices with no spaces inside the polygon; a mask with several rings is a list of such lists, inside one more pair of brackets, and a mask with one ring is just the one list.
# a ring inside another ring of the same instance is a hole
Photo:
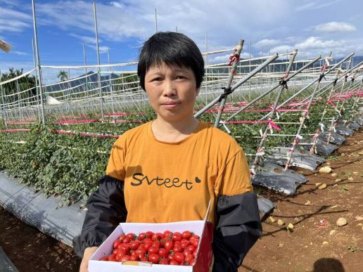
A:
{"label": "orange shirt sleeve on the right, above the black sleeve", "polygon": [[227,161],[220,183],[217,195],[239,195],[253,191],[247,158],[241,148]]}

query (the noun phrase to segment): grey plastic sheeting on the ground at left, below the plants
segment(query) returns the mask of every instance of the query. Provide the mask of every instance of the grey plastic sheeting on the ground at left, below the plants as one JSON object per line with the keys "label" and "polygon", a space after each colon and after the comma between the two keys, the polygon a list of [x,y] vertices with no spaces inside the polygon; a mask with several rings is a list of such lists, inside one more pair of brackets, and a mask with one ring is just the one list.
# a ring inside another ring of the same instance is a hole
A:
{"label": "grey plastic sheeting on the ground at left, below the plants", "polygon": [[41,192],[34,193],[32,188],[0,173],[0,205],[21,221],[72,246],[72,239],[82,230],[86,211],[81,205],[84,203],[70,207],[60,207],[60,203],[60,197],[45,198]]}

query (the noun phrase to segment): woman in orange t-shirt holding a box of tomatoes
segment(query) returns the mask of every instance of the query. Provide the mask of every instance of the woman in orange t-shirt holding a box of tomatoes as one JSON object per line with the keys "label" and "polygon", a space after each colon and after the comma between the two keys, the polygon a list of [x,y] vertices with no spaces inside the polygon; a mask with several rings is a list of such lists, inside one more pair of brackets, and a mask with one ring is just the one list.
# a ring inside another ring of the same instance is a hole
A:
{"label": "woman in orange t-shirt holding a box of tomatoes", "polygon": [[87,203],[81,271],[121,222],[214,223],[213,271],[237,271],[262,232],[246,156],[231,136],[193,117],[203,57],[184,34],[159,32],[141,49],[138,75],[157,118],[123,134]]}

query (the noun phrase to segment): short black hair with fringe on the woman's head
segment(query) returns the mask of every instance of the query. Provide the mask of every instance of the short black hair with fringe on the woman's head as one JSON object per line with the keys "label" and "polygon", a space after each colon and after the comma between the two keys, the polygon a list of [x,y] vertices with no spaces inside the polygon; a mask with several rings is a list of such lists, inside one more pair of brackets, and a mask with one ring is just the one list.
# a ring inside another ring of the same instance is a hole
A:
{"label": "short black hair with fringe on the woman's head", "polygon": [[158,32],[153,34],[141,48],[137,75],[141,88],[145,90],[145,75],[154,65],[178,65],[191,68],[200,87],[204,76],[204,60],[196,43],[184,34]]}

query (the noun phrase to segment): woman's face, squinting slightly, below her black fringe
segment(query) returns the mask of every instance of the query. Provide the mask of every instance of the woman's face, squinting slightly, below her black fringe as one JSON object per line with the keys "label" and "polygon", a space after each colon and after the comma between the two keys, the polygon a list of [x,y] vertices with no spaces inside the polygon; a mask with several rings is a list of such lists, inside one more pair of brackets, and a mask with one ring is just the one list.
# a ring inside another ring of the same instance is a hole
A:
{"label": "woman's face, squinting slightly, below her black fringe", "polygon": [[145,89],[151,107],[167,122],[189,119],[199,89],[193,70],[165,63],[151,67],[145,75]]}

